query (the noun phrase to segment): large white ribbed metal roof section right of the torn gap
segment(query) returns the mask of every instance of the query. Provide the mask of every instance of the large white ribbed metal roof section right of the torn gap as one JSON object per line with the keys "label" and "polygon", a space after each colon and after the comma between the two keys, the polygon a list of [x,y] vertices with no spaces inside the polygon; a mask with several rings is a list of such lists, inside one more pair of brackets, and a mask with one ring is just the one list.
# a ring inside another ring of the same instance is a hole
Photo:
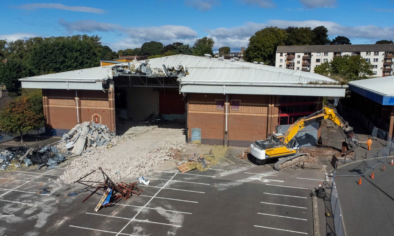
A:
{"label": "large white ribbed metal roof section right of the torn gap", "polygon": [[[147,59],[151,68],[184,65],[189,75],[181,81],[252,82],[252,83],[337,83],[328,77],[275,66],[267,66],[245,61],[231,61],[192,55],[173,55]],[[127,65],[127,63],[123,63]],[[119,64],[122,65],[122,64]]]}

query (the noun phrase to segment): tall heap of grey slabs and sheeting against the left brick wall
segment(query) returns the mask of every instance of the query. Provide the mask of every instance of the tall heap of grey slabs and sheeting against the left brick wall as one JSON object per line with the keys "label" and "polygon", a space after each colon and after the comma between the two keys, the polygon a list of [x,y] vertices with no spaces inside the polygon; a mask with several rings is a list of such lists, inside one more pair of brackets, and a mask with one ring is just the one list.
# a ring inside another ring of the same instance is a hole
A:
{"label": "tall heap of grey slabs and sheeting against the left brick wall", "polygon": [[84,122],[75,125],[69,133],[56,145],[60,150],[70,150],[71,153],[81,155],[97,146],[107,146],[116,135],[110,132],[107,125]]}

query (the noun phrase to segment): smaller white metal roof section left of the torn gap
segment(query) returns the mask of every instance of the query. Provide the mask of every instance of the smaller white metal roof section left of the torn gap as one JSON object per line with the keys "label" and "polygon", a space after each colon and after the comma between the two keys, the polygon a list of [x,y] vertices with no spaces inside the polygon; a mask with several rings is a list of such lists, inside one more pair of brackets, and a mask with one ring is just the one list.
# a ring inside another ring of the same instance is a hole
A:
{"label": "smaller white metal roof section left of the torn gap", "polygon": [[112,66],[99,66],[82,70],[71,70],[42,76],[19,79],[20,81],[97,81],[112,78]]}

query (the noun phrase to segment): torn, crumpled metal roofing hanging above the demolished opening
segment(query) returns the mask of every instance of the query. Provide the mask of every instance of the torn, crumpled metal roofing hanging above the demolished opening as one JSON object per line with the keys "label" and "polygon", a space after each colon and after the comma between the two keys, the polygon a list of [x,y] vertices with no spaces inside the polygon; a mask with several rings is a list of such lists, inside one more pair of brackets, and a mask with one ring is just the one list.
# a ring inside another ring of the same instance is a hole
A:
{"label": "torn, crumpled metal roofing hanging above the demolished opening", "polygon": [[113,76],[119,74],[136,74],[140,76],[176,76],[178,78],[189,74],[186,66],[178,65],[170,67],[163,65],[163,68],[151,68],[147,62],[133,60],[127,66],[115,66]]}

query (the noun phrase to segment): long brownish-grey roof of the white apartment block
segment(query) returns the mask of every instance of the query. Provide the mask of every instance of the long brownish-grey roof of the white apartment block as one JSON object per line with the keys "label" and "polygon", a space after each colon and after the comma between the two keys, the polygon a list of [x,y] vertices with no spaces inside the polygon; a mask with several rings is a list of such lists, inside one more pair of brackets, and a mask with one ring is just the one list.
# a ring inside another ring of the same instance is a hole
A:
{"label": "long brownish-grey roof of the white apartment block", "polygon": [[394,44],[278,46],[276,50],[276,53],[296,52],[394,52]]}

